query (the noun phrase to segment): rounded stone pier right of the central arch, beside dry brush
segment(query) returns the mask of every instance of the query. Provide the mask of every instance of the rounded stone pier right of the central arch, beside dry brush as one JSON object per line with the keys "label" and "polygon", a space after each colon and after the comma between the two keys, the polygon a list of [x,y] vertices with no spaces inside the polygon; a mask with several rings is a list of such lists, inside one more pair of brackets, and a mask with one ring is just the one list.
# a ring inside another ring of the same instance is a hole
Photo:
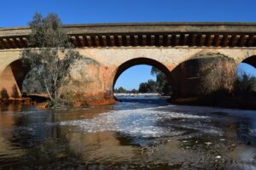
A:
{"label": "rounded stone pier right of the central arch, beside dry brush", "polygon": [[[171,72],[172,97],[205,95],[207,85],[211,86],[210,82],[219,81],[220,71],[224,71],[221,75],[224,80],[235,78],[233,76],[236,75],[237,65],[234,59],[221,54],[199,54],[193,59],[186,60]],[[204,84],[209,77],[212,79],[208,84]]]}

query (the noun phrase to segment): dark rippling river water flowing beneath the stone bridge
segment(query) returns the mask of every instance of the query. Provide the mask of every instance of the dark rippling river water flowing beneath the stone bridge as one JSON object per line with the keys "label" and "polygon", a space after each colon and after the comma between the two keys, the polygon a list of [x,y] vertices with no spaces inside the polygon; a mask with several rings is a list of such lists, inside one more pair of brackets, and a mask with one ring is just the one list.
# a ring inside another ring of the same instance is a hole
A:
{"label": "dark rippling river water flowing beneath the stone bridge", "polygon": [[0,169],[256,169],[256,111],[119,97],[71,111],[0,110]]}

